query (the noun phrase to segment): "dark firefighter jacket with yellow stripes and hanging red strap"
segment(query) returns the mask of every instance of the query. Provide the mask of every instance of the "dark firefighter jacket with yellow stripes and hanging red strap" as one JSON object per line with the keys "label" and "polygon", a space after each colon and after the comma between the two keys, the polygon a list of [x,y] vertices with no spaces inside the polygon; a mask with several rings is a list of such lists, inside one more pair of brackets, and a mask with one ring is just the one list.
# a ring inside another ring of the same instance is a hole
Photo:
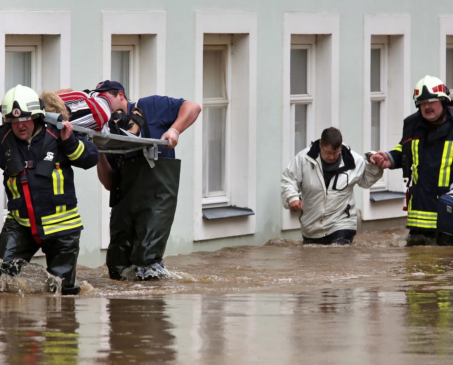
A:
{"label": "dark firefighter jacket with yellow stripes and hanging red strap", "polygon": [[81,231],[72,166],[95,166],[99,160],[96,146],[74,133],[63,141],[57,127],[49,123],[43,123],[30,144],[17,138],[10,124],[2,125],[0,141],[8,218],[30,227],[38,243]]}

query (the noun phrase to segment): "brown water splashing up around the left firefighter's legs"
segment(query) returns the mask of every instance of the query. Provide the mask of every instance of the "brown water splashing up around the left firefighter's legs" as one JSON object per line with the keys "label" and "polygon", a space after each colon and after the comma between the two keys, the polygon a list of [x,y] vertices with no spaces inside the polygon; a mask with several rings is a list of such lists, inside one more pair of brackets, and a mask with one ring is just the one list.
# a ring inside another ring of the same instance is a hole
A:
{"label": "brown water splashing up around the left firefighter's legs", "polygon": [[[1,263],[2,260],[0,260]],[[0,291],[5,293],[61,293],[62,280],[38,264],[24,264],[15,276],[0,275]]]}

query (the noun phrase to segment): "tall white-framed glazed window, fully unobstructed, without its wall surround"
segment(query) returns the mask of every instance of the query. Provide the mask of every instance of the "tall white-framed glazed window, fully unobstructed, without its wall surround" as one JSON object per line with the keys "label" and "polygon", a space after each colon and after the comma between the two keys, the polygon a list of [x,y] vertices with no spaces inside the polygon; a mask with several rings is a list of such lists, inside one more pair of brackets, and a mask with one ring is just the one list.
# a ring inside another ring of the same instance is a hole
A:
{"label": "tall white-framed glazed window, fully unobstructed, without its wall surround", "polygon": [[[231,42],[231,37],[230,38]],[[229,44],[203,47],[203,191],[202,204],[231,204],[228,82]]]}

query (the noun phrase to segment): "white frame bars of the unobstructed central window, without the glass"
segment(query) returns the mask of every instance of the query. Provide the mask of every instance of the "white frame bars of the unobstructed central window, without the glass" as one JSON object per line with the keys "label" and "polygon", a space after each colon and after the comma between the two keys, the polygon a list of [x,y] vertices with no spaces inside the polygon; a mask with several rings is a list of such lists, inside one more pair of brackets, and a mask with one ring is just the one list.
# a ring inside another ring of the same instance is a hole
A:
{"label": "white frame bars of the unobstructed central window, without the glass", "polygon": [[[206,38],[206,37],[205,37]],[[221,37],[219,37],[221,38]],[[212,196],[212,197],[203,197],[202,206],[203,207],[228,207],[231,206],[231,46],[230,44],[221,44],[220,42],[215,42],[210,37],[211,41],[203,44],[203,51],[206,49],[212,50],[222,50],[223,51],[223,62],[226,72],[225,80],[225,90],[226,97],[224,98],[203,98],[202,108],[206,106],[226,106],[226,125],[225,125],[225,191],[224,195]],[[231,43],[231,37],[228,37],[228,40]],[[217,44],[213,44],[217,43]],[[209,156],[208,156],[209,158]],[[206,180],[208,178],[206,177]],[[208,181],[204,182],[205,184]]]}

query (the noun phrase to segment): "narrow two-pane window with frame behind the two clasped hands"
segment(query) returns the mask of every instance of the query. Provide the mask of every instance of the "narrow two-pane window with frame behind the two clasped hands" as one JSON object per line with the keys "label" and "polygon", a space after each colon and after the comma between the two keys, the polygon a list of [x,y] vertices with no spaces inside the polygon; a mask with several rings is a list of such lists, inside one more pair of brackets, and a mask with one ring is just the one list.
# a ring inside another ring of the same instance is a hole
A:
{"label": "narrow two-pane window with frame behind the two clasped hands", "polygon": [[[371,37],[370,101],[371,150],[387,151],[387,86],[388,36]],[[394,146],[391,146],[394,147]],[[388,190],[388,170],[373,185],[372,190]]]}

